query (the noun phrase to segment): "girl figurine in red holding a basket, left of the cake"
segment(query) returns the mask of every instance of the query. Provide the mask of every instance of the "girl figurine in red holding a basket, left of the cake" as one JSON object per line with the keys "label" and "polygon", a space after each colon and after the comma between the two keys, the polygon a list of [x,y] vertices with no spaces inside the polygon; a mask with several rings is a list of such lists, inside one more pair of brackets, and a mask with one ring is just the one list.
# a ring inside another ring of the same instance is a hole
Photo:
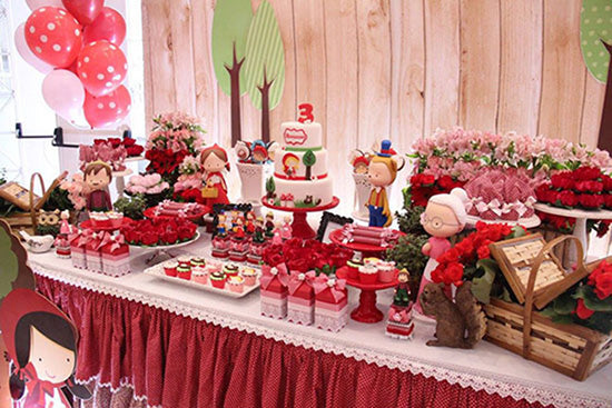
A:
{"label": "girl figurine in red holding a basket, left of the cake", "polygon": [[229,171],[227,152],[218,145],[204,149],[200,153],[204,170],[203,197],[205,205],[213,208],[216,203],[229,203],[224,170]]}

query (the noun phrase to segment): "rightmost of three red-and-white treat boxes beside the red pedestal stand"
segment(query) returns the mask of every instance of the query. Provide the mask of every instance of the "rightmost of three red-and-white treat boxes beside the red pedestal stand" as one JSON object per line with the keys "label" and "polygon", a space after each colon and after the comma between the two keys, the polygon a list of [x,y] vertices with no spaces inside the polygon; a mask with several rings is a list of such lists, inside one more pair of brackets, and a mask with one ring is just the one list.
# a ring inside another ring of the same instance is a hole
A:
{"label": "rightmost of three red-and-white treat boxes beside the red pedestal stand", "polygon": [[315,326],[339,331],[348,321],[348,293],[346,280],[328,279],[320,275],[313,282],[315,289]]}

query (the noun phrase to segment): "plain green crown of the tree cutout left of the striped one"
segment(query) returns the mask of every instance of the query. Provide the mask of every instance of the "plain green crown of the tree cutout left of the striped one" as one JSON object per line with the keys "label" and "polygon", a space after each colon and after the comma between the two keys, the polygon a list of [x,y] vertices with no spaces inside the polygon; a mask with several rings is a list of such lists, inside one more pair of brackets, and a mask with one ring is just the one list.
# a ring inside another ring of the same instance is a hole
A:
{"label": "plain green crown of the tree cutout left of the striped one", "polygon": [[[253,10],[250,0],[218,0],[213,17],[213,66],[219,87],[225,94],[231,94],[231,81],[226,67],[234,64],[234,47],[236,59],[245,57]],[[240,94],[246,91],[244,70],[240,70]]]}

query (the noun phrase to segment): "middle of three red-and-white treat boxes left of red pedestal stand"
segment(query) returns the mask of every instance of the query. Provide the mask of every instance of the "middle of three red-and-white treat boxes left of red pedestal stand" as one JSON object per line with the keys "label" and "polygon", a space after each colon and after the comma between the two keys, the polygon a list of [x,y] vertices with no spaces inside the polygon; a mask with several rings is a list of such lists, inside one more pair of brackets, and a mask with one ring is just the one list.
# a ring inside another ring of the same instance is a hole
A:
{"label": "middle of three red-and-white treat boxes left of red pedestal stand", "polygon": [[315,291],[313,280],[316,273],[292,271],[289,296],[287,298],[287,319],[294,324],[310,326],[315,321]]}

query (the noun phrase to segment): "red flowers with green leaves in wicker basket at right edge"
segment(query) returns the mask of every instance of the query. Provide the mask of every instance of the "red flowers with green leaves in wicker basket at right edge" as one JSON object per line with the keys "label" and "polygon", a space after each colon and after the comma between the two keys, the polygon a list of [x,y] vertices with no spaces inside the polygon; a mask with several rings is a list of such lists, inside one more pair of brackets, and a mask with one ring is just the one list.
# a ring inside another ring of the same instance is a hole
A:
{"label": "red flowers with green leaves in wicker basket at right edge", "polygon": [[554,322],[578,324],[610,335],[612,265],[602,260],[586,278],[559,296],[542,314]]}

